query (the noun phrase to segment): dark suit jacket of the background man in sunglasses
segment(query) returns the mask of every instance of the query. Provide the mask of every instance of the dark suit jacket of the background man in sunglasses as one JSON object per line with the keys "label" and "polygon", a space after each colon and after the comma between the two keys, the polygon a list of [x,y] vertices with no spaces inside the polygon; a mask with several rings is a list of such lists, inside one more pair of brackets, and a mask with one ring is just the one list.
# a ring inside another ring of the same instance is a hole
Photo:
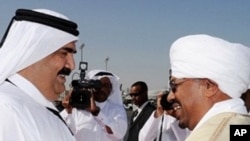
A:
{"label": "dark suit jacket of the background man in sunglasses", "polygon": [[138,141],[139,131],[148,120],[155,106],[150,102],[142,109],[135,121],[131,118],[127,141]]}

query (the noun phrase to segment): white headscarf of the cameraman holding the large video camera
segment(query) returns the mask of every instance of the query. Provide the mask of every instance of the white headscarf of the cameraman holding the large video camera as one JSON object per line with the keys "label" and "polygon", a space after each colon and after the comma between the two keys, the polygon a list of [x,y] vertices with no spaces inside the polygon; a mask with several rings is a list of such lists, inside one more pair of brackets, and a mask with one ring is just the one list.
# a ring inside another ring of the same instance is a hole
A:
{"label": "white headscarf of the cameraman holding the large video camera", "polygon": [[[96,74],[100,73],[100,72],[104,72],[104,73],[110,73],[112,75],[98,75],[95,76]],[[93,79],[93,80],[100,80],[103,77],[108,77],[111,81],[112,84],[112,92],[108,97],[108,100],[110,100],[112,103],[116,103],[119,105],[122,105],[122,93],[121,93],[121,89],[120,89],[120,83],[119,83],[119,77],[117,75],[115,75],[112,72],[106,71],[106,70],[91,70],[87,73],[86,75],[86,79]]]}

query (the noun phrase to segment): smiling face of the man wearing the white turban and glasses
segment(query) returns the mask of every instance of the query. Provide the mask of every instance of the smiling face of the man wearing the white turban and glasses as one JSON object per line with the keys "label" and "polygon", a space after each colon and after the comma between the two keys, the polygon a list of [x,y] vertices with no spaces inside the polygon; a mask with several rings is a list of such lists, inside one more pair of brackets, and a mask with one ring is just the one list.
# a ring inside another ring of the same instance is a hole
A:
{"label": "smiling face of the man wearing the white turban and glasses", "polygon": [[192,130],[205,113],[202,109],[204,96],[200,80],[173,77],[171,81],[176,85],[176,89],[170,90],[167,100],[174,101],[179,106],[172,114],[179,120],[180,127]]}

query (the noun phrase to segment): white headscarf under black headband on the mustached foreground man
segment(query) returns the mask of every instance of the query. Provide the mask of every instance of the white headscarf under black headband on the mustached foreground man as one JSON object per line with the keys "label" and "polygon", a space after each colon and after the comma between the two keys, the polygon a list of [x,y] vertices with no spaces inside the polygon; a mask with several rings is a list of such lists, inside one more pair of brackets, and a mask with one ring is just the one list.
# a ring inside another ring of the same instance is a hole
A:
{"label": "white headscarf under black headband on the mustached foreground man", "polygon": [[[69,20],[46,9],[34,11]],[[65,31],[29,21],[13,21],[0,48],[0,84],[9,76],[55,52],[78,37]]]}

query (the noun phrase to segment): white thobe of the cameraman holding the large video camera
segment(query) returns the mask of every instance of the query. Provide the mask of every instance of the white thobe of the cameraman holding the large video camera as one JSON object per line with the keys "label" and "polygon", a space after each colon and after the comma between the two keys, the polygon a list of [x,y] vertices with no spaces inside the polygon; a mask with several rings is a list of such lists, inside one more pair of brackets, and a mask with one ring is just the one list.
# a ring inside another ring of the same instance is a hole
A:
{"label": "white thobe of the cameraman holding the large video camera", "polygon": [[[100,106],[98,116],[93,116],[85,110],[73,108],[71,114],[66,110],[61,112],[69,127],[75,134],[76,140],[82,141],[121,141],[127,131],[127,115],[122,105],[106,101]],[[113,134],[108,134],[105,125]]]}

